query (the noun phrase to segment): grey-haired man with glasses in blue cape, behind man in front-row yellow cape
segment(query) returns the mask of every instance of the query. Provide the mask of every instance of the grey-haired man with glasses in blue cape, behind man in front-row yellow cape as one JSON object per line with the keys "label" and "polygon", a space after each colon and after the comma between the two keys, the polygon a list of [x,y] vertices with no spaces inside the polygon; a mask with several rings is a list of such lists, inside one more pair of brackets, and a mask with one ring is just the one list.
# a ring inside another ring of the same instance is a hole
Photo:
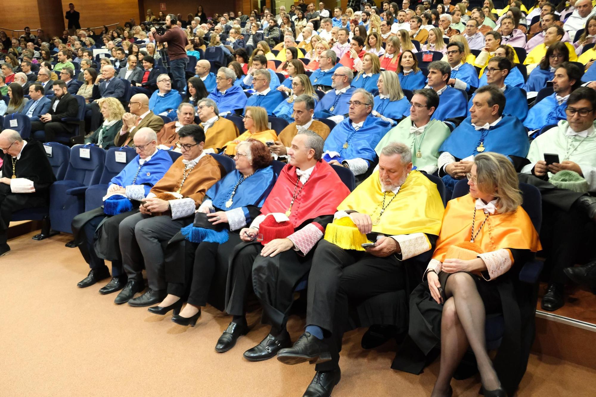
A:
{"label": "grey-haired man with glasses in blue cape, behind man in front-row yellow cape", "polygon": [[[345,96],[344,96],[345,97]],[[374,117],[373,95],[355,89],[347,101],[348,117],[339,122],[325,139],[323,160],[349,168],[357,179],[366,175],[377,154],[374,148],[389,131],[390,123]]]}

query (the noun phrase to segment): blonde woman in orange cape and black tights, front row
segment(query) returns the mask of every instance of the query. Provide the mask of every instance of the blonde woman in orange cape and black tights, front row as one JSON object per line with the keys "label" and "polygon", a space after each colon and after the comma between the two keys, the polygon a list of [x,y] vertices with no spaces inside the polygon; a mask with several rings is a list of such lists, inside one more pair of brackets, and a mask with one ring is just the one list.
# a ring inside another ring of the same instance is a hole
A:
{"label": "blonde woman in orange cape and black tights, front row", "polygon": [[[451,395],[451,379],[468,348],[483,394],[511,395],[526,370],[531,342],[523,340],[523,323],[534,311],[519,306],[514,284],[519,266],[542,247],[507,157],[477,154],[465,176],[469,193],[447,204],[424,281],[410,295],[408,334],[424,352],[440,344],[432,396]],[[502,315],[505,323],[494,363],[486,349],[488,315]]]}

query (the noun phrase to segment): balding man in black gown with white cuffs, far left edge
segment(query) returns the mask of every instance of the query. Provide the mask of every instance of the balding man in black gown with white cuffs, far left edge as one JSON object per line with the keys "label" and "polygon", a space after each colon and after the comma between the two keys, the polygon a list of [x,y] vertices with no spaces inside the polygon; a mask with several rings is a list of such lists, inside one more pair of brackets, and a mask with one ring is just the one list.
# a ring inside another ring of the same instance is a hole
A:
{"label": "balding man in black gown with white cuffs, far left edge", "polygon": [[7,229],[17,210],[49,204],[49,186],[56,180],[44,145],[23,141],[14,129],[0,133],[4,152],[0,178],[0,256],[10,252]]}

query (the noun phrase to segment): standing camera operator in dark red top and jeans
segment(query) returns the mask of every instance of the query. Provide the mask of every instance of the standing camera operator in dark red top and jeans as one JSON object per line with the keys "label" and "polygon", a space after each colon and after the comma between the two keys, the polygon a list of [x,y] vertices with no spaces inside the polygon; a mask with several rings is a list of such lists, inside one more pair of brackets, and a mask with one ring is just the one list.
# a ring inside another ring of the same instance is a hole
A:
{"label": "standing camera operator in dark red top and jeans", "polygon": [[186,46],[188,39],[184,30],[178,26],[178,20],[172,14],[166,17],[166,27],[168,28],[163,35],[156,33],[156,28],[151,27],[149,40],[155,40],[158,43],[167,43],[167,55],[169,56],[170,73],[172,73],[172,83],[178,92],[183,92],[186,87],[186,67],[188,64],[188,55]]}

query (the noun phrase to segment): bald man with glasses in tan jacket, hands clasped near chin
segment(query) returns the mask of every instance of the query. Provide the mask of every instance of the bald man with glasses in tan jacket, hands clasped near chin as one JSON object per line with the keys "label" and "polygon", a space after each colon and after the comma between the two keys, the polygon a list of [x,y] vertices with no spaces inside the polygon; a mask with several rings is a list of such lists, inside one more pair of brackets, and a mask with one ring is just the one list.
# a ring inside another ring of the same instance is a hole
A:
{"label": "bald man with glasses in tan jacket, hands clasped near chin", "polygon": [[149,98],[145,94],[135,94],[128,103],[130,113],[122,116],[122,129],[114,138],[114,145],[128,146],[132,143],[135,132],[141,128],[151,128],[154,132],[160,131],[163,127],[162,117],[153,114],[149,110]]}

